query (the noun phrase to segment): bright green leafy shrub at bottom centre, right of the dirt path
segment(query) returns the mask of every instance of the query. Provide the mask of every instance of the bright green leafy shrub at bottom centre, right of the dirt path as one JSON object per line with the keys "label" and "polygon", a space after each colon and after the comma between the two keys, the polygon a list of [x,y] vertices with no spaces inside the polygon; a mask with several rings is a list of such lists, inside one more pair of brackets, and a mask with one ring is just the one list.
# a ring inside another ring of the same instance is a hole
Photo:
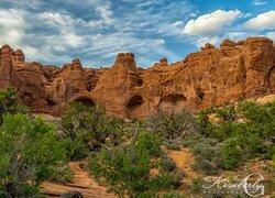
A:
{"label": "bright green leafy shrub at bottom centre, right of the dirt path", "polygon": [[89,161],[92,176],[99,183],[108,183],[120,197],[129,194],[143,197],[160,189],[173,188],[174,177],[168,173],[151,175],[158,167],[162,153],[161,140],[152,133],[141,133],[135,142],[112,150],[102,147]]}

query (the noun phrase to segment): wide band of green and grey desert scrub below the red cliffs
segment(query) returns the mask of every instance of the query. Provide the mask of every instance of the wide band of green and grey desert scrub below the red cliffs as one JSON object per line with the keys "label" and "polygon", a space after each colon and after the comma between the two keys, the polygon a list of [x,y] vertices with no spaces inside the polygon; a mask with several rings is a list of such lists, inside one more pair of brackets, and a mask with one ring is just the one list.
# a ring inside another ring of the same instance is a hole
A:
{"label": "wide band of green and grey desert scrub below the red cliffs", "polygon": [[275,102],[226,105],[197,114],[158,111],[131,122],[107,116],[102,106],[76,102],[55,124],[34,119],[15,89],[0,91],[0,197],[38,197],[45,179],[72,182],[66,162],[82,158],[91,176],[120,197],[178,196],[173,190],[185,173],[167,150],[188,147],[193,168],[204,175],[253,158],[275,161]]}

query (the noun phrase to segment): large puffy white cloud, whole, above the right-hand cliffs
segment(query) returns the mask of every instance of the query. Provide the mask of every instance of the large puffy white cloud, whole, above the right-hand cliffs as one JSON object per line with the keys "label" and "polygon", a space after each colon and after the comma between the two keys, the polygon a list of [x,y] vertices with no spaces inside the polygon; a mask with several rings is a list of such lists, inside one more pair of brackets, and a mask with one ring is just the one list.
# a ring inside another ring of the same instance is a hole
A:
{"label": "large puffy white cloud, whole, above the right-hand cliffs", "polygon": [[217,10],[209,14],[200,15],[196,20],[189,20],[183,33],[188,35],[209,36],[221,34],[224,28],[230,26],[238,18],[243,16],[239,10]]}

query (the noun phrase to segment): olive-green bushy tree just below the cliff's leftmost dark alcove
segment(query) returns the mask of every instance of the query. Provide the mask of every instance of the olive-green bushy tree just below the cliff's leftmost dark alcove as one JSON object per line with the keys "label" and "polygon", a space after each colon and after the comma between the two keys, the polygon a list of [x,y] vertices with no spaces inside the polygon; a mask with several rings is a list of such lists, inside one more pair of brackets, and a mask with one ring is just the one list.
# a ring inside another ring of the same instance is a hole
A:
{"label": "olive-green bushy tree just below the cliff's leftmost dark alcove", "polygon": [[66,142],[68,158],[84,158],[89,151],[100,148],[108,136],[107,122],[103,107],[74,102],[62,117],[59,129]]}

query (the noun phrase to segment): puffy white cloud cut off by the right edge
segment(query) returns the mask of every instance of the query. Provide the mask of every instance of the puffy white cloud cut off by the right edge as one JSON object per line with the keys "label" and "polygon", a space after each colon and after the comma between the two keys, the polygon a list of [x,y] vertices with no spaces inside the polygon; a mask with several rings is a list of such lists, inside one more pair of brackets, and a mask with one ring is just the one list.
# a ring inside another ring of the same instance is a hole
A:
{"label": "puffy white cloud cut off by the right edge", "polygon": [[249,30],[273,30],[275,29],[275,10],[258,14],[257,16],[244,23],[244,28]]}

